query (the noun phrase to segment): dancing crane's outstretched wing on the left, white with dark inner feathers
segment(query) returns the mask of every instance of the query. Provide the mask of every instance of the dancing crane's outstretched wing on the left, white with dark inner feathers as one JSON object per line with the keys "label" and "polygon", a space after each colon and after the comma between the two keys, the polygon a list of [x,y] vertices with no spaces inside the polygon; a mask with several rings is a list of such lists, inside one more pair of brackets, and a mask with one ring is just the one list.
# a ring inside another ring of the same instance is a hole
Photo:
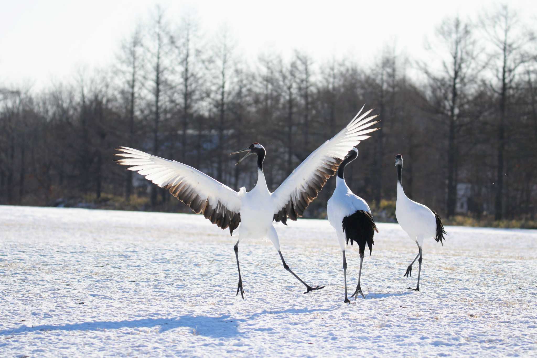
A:
{"label": "dancing crane's outstretched wing on the left, white with dark inner feathers", "polygon": [[241,200],[238,193],[207,174],[175,160],[150,155],[140,150],[120,147],[115,154],[123,159],[116,163],[140,173],[161,188],[169,189],[177,199],[187,204],[196,214],[203,214],[219,228],[233,235],[241,222]]}

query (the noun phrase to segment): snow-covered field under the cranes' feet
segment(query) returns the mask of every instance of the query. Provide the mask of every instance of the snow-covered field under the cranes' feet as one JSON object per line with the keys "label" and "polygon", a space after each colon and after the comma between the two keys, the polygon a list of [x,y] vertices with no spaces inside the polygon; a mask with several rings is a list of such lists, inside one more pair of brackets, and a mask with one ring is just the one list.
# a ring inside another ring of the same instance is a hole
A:
{"label": "snow-covered field under the cranes' feet", "polygon": [[[379,224],[365,299],[343,303],[328,221],[239,247],[201,216],[0,206],[0,356],[535,356],[537,232],[446,227],[417,254]],[[347,251],[349,294],[360,264]]]}

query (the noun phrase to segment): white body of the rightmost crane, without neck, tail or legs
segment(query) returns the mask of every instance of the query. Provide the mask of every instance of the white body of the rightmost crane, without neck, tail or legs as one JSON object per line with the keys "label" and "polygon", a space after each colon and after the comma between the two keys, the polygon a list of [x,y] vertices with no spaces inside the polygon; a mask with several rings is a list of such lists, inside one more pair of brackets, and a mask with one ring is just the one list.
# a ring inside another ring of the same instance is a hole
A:
{"label": "white body of the rightmost crane, without neck, tail or legs", "polygon": [[436,217],[425,205],[410,200],[403,187],[397,182],[395,216],[401,228],[408,233],[412,242],[421,247],[425,238],[436,236]]}

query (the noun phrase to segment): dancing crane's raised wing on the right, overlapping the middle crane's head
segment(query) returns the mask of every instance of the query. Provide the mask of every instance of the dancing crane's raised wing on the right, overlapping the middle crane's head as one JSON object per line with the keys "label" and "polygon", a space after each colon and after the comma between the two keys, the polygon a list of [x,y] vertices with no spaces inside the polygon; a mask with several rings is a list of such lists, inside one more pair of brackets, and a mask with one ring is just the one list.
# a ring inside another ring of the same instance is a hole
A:
{"label": "dancing crane's raised wing on the right, overlapping the middle crane's head", "polygon": [[366,134],[379,129],[369,128],[379,122],[372,122],[376,115],[366,118],[373,108],[360,115],[362,109],[364,107],[345,128],[297,166],[276,189],[272,194],[273,220],[286,224],[287,217],[296,220],[297,216],[302,216],[309,203],[317,198],[317,193],[326,184],[326,180],[336,173],[339,164],[352,147],[369,138]]}

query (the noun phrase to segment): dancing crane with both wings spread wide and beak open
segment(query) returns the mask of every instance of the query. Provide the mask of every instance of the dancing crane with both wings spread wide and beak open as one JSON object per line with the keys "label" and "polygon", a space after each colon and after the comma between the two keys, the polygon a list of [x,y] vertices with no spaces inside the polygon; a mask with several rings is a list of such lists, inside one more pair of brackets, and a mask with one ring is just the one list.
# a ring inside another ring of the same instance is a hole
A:
{"label": "dancing crane with both wings spread wide and beak open", "polygon": [[238,263],[238,244],[244,238],[269,238],[278,250],[284,268],[306,286],[304,293],[308,293],[323,287],[309,286],[289,268],[281,253],[278,234],[272,221],[281,221],[287,225],[287,218],[296,220],[298,216],[302,216],[309,203],[326,184],[326,180],[336,173],[347,152],[360,141],[369,138],[366,134],[378,129],[369,128],[377,123],[372,122],[376,115],[366,118],[373,109],[359,116],[362,109],[364,107],[345,128],[297,166],[273,193],[266,185],[263,173],[266,152],[259,143],[231,153],[247,152],[237,164],[252,154],[257,156],[257,184],[249,192],[246,192],[244,187],[236,192],[191,166],[128,147],[117,149],[121,153],[116,155],[122,159],[116,162],[128,166],[128,170],[142,174],[159,187],[169,189],[173,196],[190,206],[196,214],[204,215],[219,228],[229,227],[231,236],[241,224],[234,246],[239,276],[237,295],[240,292],[244,298],[241,268]]}

